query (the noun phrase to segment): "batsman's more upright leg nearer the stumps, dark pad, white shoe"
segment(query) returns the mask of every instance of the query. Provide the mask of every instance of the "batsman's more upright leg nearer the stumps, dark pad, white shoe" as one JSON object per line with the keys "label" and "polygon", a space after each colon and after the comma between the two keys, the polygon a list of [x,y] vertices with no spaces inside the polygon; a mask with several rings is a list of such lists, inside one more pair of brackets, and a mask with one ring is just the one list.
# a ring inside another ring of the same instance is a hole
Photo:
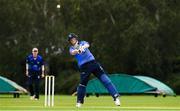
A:
{"label": "batsman's more upright leg nearer the stumps, dark pad, white shoe", "polygon": [[80,74],[80,84],[77,88],[77,107],[80,107],[81,104],[84,103],[84,97],[86,94],[86,85],[89,80],[90,73],[88,72],[81,72]]}

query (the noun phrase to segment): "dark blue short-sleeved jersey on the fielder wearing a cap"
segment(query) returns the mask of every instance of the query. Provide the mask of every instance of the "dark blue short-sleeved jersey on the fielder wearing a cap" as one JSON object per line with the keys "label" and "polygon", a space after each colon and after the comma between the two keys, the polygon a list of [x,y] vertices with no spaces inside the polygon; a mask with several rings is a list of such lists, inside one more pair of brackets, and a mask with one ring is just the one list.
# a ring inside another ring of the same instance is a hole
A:
{"label": "dark blue short-sleeved jersey on the fielder wearing a cap", "polygon": [[28,64],[30,72],[40,72],[41,66],[44,65],[43,58],[40,55],[38,55],[35,59],[32,54],[26,58],[26,63]]}

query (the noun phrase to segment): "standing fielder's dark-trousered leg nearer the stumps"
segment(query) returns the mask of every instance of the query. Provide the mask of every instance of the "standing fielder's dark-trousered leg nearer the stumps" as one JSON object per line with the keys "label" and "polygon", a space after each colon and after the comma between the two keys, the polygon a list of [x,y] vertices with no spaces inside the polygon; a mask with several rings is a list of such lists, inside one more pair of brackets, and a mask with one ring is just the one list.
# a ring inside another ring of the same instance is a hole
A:
{"label": "standing fielder's dark-trousered leg nearer the stumps", "polygon": [[39,99],[39,83],[40,83],[40,76],[36,76],[34,79],[35,83],[35,99]]}

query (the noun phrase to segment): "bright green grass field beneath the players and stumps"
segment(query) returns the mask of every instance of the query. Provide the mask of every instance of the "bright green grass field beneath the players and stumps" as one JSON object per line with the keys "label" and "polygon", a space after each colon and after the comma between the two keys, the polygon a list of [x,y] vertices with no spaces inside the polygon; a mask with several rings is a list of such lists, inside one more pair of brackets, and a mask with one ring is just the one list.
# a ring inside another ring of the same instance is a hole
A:
{"label": "bright green grass field beneath the players and stumps", "polygon": [[180,111],[180,96],[122,96],[120,107],[115,106],[110,96],[90,96],[81,108],[75,107],[76,97],[56,95],[55,106],[44,107],[44,96],[40,100],[30,100],[29,96],[12,98],[0,95],[0,111]]}

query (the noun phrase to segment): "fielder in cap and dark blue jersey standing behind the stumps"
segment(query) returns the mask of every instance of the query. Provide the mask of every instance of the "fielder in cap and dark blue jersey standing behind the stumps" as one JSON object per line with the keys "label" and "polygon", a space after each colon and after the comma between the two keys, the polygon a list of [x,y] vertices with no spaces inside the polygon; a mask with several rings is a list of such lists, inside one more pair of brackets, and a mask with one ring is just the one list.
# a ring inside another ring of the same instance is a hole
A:
{"label": "fielder in cap and dark blue jersey standing behind the stumps", "polygon": [[26,76],[28,77],[30,99],[38,100],[40,79],[44,77],[44,61],[43,58],[38,55],[37,48],[33,48],[32,54],[26,58]]}

